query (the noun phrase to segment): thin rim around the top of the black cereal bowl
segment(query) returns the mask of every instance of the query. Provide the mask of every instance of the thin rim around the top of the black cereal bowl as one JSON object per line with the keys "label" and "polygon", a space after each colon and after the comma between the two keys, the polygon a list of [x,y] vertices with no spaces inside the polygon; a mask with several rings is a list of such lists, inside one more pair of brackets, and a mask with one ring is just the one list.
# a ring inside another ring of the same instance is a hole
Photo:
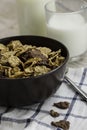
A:
{"label": "thin rim around the top of the black cereal bowl", "polygon": [[54,73],[56,70],[60,69],[62,66],[64,66],[68,62],[68,60],[69,60],[69,50],[68,50],[68,48],[63,43],[61,43],[60,41],[52,39],[52,38],[49,38],[49,37],[46,37],[46,36],[17,35],[17,36],[8,36],[8,37],[0,38],[0,41],[1,40],[10,39],[10,38],[12,39],[12,38],[21,38],[21,37],[38,37],[38,38],[45,38],[45,39],[56,41],[56,42],[58,42],[60,45],[62,45],[65,48],[65,50],[67,52],[67,56],[66,56],[64,62],[60,66],[56,67],[55,69],[52,69],[51,71],[49,71],[49,72],[47,72],[45,74],[38,75],[38,76],[32,76],[32,77],[24,77],[24,78],[8,78],[8,77],[6,77],[6,78],[0,78],[0,80],[26,80],[26,79],[31,80],[31,79],[41,78],[41,77],[44,77],[44,76],[48,76],[51,73]]}

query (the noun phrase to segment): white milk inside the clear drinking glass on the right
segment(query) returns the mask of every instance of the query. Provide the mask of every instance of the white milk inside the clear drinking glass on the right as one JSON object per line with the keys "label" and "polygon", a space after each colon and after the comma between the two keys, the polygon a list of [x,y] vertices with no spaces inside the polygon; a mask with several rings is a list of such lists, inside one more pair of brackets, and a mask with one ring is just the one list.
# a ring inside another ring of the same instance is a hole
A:
{"label": "white milk inside the clear drinking glass on the right", "polygon": [[54,14],[48,21],[47,34],[65,44],[70,57],[87,50],[87,23],[80,14]]}

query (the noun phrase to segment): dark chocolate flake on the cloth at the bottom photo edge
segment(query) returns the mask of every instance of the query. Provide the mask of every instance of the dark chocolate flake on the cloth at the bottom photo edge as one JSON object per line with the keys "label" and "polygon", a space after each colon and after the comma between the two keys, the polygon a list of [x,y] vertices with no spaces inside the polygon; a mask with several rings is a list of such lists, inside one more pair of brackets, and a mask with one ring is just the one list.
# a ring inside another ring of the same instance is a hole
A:
{"label": "dark chocolate flake on the cloth at the bottom photo edge", "polygon": [[52,122],[51,122],[51,125],[53,125],[53,126],[55,126],[55,127],[60,127],[60,128],[62,128],[63,130],[69,130],[70,122],[69,122],[69,121],[66,121],[66,120],[60,120],[60,121],[58,121],[58,122],[52,121]]}

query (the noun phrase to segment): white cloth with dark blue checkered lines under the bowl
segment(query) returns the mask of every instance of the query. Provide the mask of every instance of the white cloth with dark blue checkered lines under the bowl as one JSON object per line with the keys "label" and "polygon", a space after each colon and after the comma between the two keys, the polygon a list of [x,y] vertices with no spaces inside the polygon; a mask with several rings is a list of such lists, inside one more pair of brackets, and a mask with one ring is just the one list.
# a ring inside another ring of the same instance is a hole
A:
{"label": "white cloth with dark blue checkered lines under the bowl", "polygon": [[[67,74],[79,87],[87,92],[87,69],[69,69]],[[54,102],[68,101],[68,109],[53,106]],[[49,111],[53,109],[60,116],[53,118]],[[87,102],[85,102],[64,81],[57,92],[45,102],[22,108],[0,107],[0,130],[61,130],[51,126],[52,121],[67,120],[69,130],[87,130]]]}

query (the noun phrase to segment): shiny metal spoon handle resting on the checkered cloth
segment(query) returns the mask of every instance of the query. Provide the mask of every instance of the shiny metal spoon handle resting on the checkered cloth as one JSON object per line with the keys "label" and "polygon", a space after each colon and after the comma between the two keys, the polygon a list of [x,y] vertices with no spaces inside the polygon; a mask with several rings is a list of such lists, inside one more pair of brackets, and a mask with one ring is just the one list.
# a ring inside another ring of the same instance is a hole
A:
{"label": "shiny metal spoon handle resting on the checkered cloth", "polygon": [[69,83],[70,86],[73,87],[73,89],[79,93],[79,95],[87,102],[87,94],[78,87],[69,77],[65,76],[65,80]]}

